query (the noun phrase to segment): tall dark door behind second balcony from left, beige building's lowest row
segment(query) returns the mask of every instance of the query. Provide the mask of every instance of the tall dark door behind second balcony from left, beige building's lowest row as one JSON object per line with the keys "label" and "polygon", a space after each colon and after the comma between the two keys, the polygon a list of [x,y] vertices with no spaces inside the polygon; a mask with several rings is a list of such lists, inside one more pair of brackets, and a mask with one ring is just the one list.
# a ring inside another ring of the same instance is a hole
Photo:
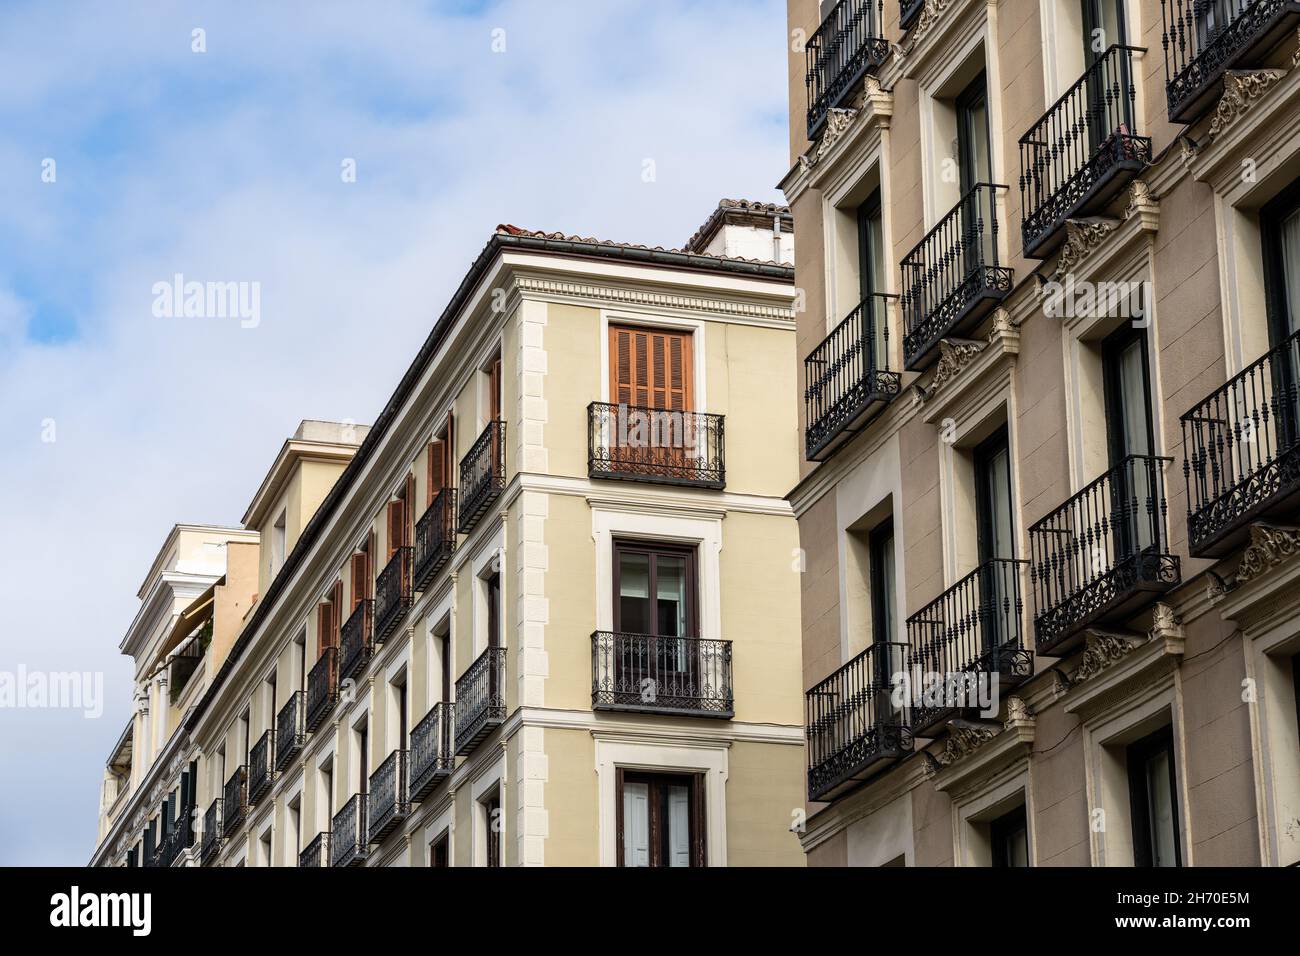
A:
{"label": "tall dark door behind second balcony from left, beige building's lowest row", "polygon": [[[1006,428],[975,447],[975,525],[979,564],[980,648],[985,657],[1019,636],[1015,609],[1015,522],[1011,492],[1011,449]],[[1014,650],[1014,648],[1013,648]],[[996,663],[996,659],[991,663]],[[996,670],[996,667],[989,667]]]}

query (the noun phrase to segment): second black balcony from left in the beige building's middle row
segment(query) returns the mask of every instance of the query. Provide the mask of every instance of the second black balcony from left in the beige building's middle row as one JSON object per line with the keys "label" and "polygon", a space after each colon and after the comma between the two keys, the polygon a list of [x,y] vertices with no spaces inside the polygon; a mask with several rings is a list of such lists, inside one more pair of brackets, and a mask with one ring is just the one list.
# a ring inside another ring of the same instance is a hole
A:
{"label": "second black balcony from left in the beige building's middle row", "polygon": [[1005,189],[972,186],[902,260],[907,371],[928,365],[939,339],[971,330],[1010,294],[1013,274],[997,251],[997,194]]}

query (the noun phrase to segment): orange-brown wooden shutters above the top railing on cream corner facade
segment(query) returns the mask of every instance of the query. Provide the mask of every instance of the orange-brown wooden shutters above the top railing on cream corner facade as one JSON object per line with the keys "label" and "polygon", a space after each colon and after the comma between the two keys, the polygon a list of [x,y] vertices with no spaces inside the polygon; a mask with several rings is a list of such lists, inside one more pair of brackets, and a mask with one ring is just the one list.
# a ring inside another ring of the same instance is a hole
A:
{"label": "orange-brown wooden shutters above the top railing on cream corner facade", "polygon": [[610,326],[610,402],[692,410],[690,333]]}

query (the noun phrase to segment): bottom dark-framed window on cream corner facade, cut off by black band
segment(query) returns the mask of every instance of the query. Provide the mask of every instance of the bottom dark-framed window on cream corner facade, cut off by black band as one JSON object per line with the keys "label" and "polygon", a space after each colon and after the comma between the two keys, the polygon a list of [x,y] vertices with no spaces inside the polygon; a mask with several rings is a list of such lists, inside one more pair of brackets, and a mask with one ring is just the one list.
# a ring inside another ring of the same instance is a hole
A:
{"label": "bottom dark-framed window on cream corner facade, cut off by black band", "polygon": [[703,775],[619,770],[619,866],[703,866]]}

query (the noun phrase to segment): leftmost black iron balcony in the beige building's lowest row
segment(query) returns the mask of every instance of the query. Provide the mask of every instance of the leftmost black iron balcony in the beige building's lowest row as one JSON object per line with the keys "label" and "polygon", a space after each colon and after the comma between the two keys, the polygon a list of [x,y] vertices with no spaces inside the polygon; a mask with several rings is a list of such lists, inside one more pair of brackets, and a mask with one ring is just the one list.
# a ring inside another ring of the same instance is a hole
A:
{"label": "leftmost black iron balcony in the beige building's lowest row", "polygon": [[805,695],[809,799],[833,800],[911,752],[906,700],[892,700],[906,644],[872,644]]}

